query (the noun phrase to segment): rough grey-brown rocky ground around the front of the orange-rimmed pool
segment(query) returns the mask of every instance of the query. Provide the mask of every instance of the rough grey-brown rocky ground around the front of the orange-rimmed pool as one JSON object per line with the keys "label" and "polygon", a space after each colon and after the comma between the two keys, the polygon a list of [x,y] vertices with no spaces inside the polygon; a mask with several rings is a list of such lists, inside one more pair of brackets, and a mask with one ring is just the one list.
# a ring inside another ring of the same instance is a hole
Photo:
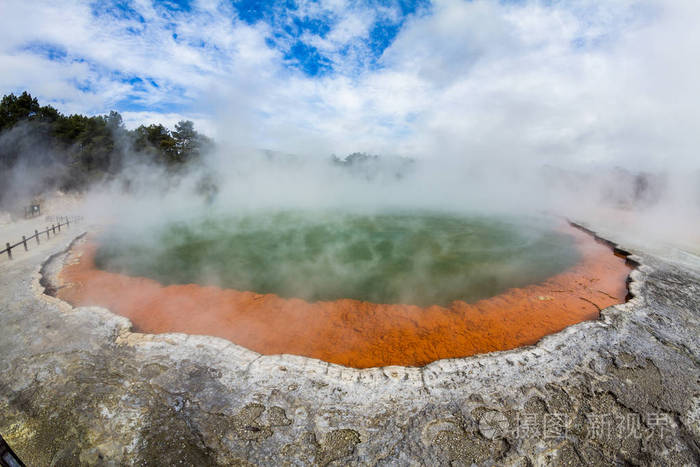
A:
{"label": "rough grey-brown rocky ground around the front of the orange-rimmed pool", "polygon": [[639,267],[600,320],[515,351],[355,370],[133,333],[47,296],[78,233],[0,263],[0,434],[27,465],[700,464],[695,256],[602,232]]}

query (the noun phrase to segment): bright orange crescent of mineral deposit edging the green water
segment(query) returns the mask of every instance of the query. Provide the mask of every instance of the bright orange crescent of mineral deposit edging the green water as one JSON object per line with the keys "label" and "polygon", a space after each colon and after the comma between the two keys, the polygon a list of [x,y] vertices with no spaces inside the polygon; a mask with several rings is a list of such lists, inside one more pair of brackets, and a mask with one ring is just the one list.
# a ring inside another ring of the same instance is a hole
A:
{"label": "bright orange crescent of mineral deposit edging the green water", "polygon": [[146,333],[218,336],[256,352],[296,354],[355,368],[420,366],[442,358],[530,345],[623,303],[630,269],[607,245],[569,228],[575,266],[548,280],[447,307],[340,299],[309,303],[197,284],[170,285],[99,270],[97,245],[76,245],[58,296],[129,318]]}

